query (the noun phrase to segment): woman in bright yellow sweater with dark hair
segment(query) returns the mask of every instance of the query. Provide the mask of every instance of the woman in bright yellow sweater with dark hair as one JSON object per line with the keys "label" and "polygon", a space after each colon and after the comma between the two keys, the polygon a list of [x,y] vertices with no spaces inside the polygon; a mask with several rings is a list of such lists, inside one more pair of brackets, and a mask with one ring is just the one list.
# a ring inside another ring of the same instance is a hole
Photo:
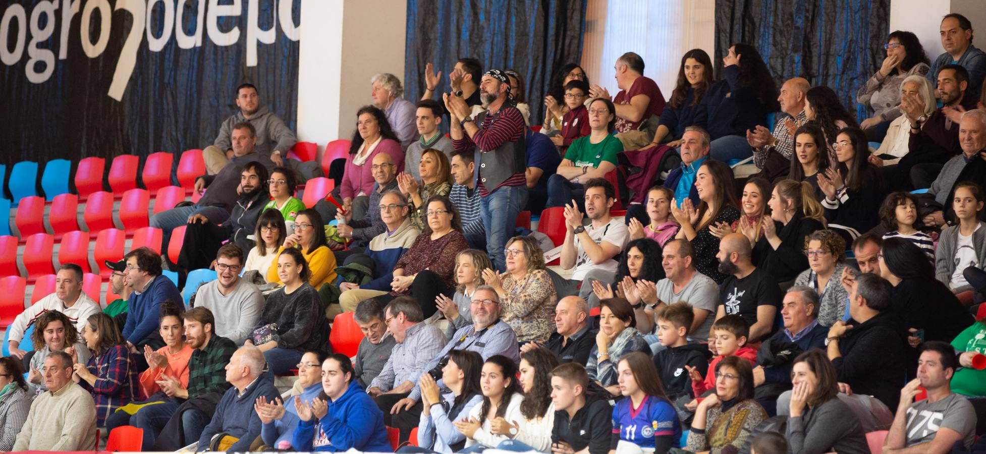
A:
{"label": "woman in bright yellow sweater with dark hair", "polygon": [[295,232],[288,235],[277,250],[277,257],[267,270],[267,282],[281,284],[281,278],[277,276],[277,260],[286,247],[301,247],[302,255],[312,269],[309,284],[316,290],[322,284],[335,281],[335,254],[328,248],[325,225],[317,211],[310,208],[298,212],[295,217]]}

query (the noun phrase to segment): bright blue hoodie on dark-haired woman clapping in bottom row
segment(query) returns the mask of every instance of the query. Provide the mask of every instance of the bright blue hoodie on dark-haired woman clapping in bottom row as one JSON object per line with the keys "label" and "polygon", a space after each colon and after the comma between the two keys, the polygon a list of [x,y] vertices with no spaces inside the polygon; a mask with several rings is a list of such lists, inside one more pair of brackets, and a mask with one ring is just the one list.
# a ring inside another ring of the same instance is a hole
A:
{"label": "bright blue hoodie on dark-haired woman clapping in bottom row", "polygon": [[297,451],[390,452],[384,412],[355,380],[339,399],[328,403],[320,421],[299,421],[291,442]]}

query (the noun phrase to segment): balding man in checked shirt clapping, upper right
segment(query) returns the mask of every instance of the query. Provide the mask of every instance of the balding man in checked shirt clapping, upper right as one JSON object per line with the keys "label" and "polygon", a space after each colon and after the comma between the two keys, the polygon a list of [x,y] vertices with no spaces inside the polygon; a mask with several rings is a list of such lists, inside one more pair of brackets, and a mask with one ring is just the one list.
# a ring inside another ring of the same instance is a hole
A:
{"label": "balding man in checked shirt clapping, upper right", "polygon": [[[777,155],[771,161],[782,162],[778,160],[782,157],[784,160],[791,160],[795,151],[794,132],[799,126],[808,123],[808,117],[805,116],[805,94],[810,88],[811,84],[805,78],[788,79],[781,86],[781,95],[777,97],[778,102],[781,103],[781,111],[787,115],[781,115],[777,119],[774,132],[771,133],[763,126],[757,126],[754,131],[746,130],[746,142],[753,147],[753,163],[756,164],[756,168],[764,168],[771,153]],[[786,167],[781,168],[781,165],[777,167],[787,174]]]}

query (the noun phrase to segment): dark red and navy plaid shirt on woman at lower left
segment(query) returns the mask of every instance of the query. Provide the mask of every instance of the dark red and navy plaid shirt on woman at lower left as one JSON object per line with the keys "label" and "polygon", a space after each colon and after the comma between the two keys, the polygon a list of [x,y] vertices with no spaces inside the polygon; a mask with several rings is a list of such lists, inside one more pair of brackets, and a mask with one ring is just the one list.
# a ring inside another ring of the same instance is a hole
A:
{"label": "dark red and navy plaid shirt on woman at lower left", "polygon": [[138,396],[137,365],[126,345],[117,344],[90,357],[86,368],[96,375],[96,383],[80,380],[79,384],[93,394],[96,424],[103,426],[106,417]]}

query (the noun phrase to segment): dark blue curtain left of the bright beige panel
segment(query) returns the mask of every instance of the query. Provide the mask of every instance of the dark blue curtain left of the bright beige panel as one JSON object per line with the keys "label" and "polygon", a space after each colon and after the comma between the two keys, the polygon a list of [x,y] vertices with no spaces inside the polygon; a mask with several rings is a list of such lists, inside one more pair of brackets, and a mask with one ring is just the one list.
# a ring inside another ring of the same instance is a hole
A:
{"label": "dark blue curtain left of the bright beige panel", "polygon": [[555,72],[582,59],[586,0],[411,0],[407,2],[404,97],[424,93],[425,64],[442,71],[439,90],[461,57],[486,69],[524,77],[531,124],[544,117],[544,95]]}

